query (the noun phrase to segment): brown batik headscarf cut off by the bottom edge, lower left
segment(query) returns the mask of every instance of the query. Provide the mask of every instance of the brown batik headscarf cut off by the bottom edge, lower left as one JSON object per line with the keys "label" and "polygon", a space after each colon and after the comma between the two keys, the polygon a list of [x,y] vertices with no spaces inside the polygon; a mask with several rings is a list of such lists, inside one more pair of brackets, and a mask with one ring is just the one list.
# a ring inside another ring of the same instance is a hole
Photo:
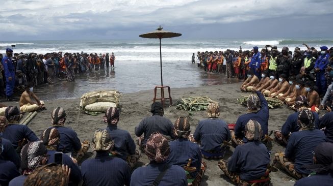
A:
{"label": "brown batik headscarf cut off by the bottom edge, lower left", "polygon": [[52,163],[38,167],[25,178],[23,186],[65,186],[66,179],[61,165]]}

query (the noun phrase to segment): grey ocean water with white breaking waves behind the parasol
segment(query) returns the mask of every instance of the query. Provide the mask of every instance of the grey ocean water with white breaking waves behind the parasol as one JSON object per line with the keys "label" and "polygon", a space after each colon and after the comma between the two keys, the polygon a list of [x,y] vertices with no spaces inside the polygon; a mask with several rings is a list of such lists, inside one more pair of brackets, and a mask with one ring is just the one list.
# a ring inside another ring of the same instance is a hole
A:
{"label": "grey ocean water with white breaking waves behind the parasol", "polygon": [[[191,55],[197,51],[224,51],[226,49],[252,49],[275,45],[305,49],[302,43],[319,49],[333,46],[333,38],[322,39],[216,39],[184,40],[162,39],[163,84],[171,88],[232,83],[224,75],[206,73],[191,64]],[[116,56],[115,71],[92,71],[76,76],[75,82],[65,80],[54,85],[36,88],[43,100],[78,98],[91,90],[118,89],[124,93],[152,89],[161,84],[160,49],[158,39],[101,40],[101,41],[0,41],[0,53],[14,47],[14,53],[79,52],[111,53]],[[47,92],[47,93],[46,93]],[[153,95],[152,95],[153,96]]]}

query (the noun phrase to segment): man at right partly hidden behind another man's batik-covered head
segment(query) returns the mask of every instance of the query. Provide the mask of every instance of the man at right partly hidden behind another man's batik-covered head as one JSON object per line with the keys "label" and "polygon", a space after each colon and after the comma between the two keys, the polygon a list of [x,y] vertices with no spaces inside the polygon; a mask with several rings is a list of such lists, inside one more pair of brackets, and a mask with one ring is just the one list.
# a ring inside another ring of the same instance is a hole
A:
{"label": "man at right partly hidden behind another man's batik-covered head", "polygon": [[[303,109],[308,109],[308,100],[306,100],[305,96],[298,96],[295,101],[295,107],[297,111],[301,111]],[[315,118],[315,128],[318,129],[319,126],[319,115],[317,112],[313,112]],[[274,131],[275,141],[282,145],[286,146],[288,144],[288,139],[293,132],[299,131],[298,126],[298,112],[292,113],[288,116],[285,124],[282,126],[281,130]]]}

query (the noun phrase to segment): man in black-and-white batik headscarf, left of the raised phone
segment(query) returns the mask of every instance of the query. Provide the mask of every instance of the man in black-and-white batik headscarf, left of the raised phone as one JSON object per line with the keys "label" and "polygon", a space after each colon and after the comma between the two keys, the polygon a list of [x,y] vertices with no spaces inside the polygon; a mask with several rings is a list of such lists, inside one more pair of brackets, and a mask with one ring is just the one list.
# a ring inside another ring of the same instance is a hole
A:
{"label": "man in black-and-white batik headscarf, left of the raised phone", "polygon": [[42,141],[29,142],[21,151],[22,175],[12,179],[9,186],[23,186],[25,178],[36,170],[37,167],[47,164],[47,149]]}

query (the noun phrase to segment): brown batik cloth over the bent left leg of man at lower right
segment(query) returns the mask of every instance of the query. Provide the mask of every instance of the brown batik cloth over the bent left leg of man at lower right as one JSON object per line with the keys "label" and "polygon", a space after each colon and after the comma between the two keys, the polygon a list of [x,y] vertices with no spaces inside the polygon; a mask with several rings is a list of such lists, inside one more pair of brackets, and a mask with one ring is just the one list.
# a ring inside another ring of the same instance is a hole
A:
{"label": "brown batik cloth over the bent left leg of man at lower right", "polygon": [[295,169],[295,164],[285,157],[285,152],[277,152],[274,155],[275,167],[286,170],[291,176],[296,179],[301,179],[306,175],[300,174]]}

